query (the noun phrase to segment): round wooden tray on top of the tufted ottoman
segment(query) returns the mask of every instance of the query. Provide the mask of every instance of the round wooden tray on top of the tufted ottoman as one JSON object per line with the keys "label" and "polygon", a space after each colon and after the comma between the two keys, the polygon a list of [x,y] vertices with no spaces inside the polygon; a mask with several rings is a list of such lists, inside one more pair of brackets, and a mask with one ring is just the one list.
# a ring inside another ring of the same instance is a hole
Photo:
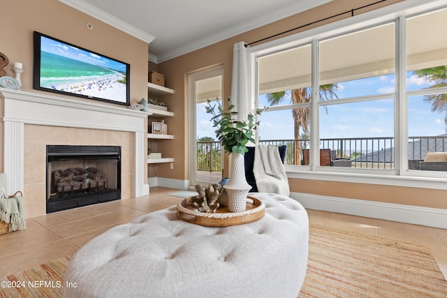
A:
{"label": "round wooden tray on top of the tufted ottoman", "polygon": [[262,218],[265,214],[265,204],[260,200],[247,196],[247,209],[242,212],[230,212],[228,207],[217,208],[216,213],[200,212],[189,205],[191,198],[186,198],[177,204],[177,216],[188,223],[205,225],[207,227],[227,227],[242,225]]}

